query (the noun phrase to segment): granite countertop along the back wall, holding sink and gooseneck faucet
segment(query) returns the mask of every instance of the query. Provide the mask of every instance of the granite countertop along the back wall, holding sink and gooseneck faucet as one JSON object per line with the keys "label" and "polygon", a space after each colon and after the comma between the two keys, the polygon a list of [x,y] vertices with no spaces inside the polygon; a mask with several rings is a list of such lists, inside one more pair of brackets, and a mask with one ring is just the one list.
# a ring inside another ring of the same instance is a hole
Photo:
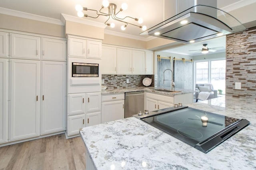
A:
{"label": "granite countertop along the back wall, holding sink and gooseneck faucet", "polygon": [[117,89],[107,88],[106,90],[102,90],[101,94],[104,95],[104,94],[116,94],[116,93],[144,91],[144,92],[153,92],[153,93],[157,93],[157,94],[164,94],[164,95],[168,95],[168,96],[175,96],[175,95],[193,93],[194,92],[194,90],[179,89],[179,88],[174,88],[174,91],[176,91],[176,92],[162,92],[162,91],[157,91],[156,89],[171,90],[171,88],[168,88],[168,87],[138,86],[138,87],[132,87],[132,88],[117,88]]}

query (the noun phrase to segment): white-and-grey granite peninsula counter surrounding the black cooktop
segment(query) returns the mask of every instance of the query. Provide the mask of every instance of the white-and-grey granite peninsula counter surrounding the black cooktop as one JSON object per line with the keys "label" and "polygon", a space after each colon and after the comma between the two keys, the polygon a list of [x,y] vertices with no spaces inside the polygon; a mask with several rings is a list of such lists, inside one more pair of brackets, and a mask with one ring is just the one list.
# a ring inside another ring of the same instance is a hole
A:
{"label": "white-and-grey granite peninsula counter surrounding the black cooktop", "polygon": [[130,117],[81,129],[86,166],[105,169],[256,169],[255,101],[230,96],[187,106],[250,125],[207,154]]}

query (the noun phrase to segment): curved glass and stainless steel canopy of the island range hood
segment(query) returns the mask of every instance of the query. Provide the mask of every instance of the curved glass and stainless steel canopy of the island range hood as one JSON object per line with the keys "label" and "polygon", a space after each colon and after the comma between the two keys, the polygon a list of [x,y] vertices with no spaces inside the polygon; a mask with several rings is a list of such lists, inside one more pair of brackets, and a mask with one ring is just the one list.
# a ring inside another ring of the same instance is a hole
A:
{"label": "curved glass and stainless steel canopy of the island range hood", "polygon": [[140,33],[179,41],[198,42],[246,29],[230,14],[211,6],[196,5]]}

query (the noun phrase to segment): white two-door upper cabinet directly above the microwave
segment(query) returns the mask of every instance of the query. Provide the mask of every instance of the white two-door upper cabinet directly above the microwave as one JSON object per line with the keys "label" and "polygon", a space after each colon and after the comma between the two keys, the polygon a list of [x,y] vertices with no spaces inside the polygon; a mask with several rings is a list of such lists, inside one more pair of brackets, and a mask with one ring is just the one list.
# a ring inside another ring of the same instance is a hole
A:
{"label": "white two-door upper cabinet directly above the microwave", "polygon": [[69,57],[101,59],[102,43],[79,38],[68,38]]}

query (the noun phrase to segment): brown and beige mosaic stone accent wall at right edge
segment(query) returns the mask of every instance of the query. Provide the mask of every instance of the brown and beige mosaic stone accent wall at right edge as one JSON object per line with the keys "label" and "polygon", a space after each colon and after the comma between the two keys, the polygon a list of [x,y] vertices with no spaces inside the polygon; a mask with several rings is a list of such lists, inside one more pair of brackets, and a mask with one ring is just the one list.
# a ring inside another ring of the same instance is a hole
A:
{"label": "brown and beige mosaic stone accent wall at right edge", "polygon": [[226,95],[256,100],[256,27],[227,35],[226,43]]}

